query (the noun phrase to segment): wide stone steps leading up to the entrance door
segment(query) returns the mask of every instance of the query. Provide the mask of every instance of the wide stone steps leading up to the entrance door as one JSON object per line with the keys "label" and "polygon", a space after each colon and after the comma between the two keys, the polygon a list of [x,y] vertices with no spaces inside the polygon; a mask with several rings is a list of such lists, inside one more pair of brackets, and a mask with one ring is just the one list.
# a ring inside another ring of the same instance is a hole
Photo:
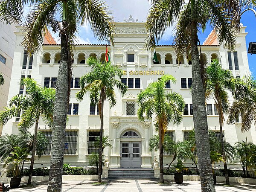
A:
{"label": "wide stone steps leading up to the entrance door", "polygon": [[154,178],[154,170],[151,168],[111,168],[108,178]]}

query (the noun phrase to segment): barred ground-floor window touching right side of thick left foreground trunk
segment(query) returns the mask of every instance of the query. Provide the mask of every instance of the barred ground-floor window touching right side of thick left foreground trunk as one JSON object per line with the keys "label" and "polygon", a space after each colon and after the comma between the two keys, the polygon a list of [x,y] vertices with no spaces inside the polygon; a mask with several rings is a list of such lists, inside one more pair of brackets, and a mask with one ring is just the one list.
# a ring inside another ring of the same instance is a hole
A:
{"label": "barred ground-floor window touching right side of thick left foreground trunk", "polygon": [[77,131],[65,132],[64,154],[76,154]]}

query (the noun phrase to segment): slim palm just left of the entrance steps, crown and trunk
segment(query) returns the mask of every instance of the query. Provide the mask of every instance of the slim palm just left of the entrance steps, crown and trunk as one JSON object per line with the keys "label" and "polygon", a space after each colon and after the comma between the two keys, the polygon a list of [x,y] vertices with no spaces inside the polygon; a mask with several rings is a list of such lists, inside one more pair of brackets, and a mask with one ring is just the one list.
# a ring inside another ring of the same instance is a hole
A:
{"label": "slim palm just left of the entrance steps, crown and trunk", "polygon": [[[121,90],[121,95],[124,96],[127,91],[127,86],[119,79],[122,77],[122,70],[111,65],[111,62],[101,62],[99,59],[88,58],[87,64],[92,67],[92,70],[83,75],[80,79],[81,90],[76,93],[76,99],[82,101],[84,94],[90,92],[90,102],[99,106],[100,111],[100,136],[99,136],[99,167],[102,166],[102,138],[103,138],[103,108],[104,102],[108,99],[110,108],[116,105],[116,93],[114,87]],[[99,169],[98,182],[101,182],[102,170]]]}

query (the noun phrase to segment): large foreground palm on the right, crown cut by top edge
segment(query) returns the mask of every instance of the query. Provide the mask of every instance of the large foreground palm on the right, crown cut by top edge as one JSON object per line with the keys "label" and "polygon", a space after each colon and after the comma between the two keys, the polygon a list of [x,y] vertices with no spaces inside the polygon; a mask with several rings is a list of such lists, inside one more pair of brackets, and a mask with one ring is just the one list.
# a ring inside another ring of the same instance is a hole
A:
{"label": "large foreground palm on the right, crown cut by top edge", "polygon": [[147,47],[154,47],[168,26],[178,20],[174,40],[177,58],[181,58],[184,52],[191,53],[193,120],[201,189],[203,192],[215,191],[209,155],[207,113],[204,105],[206,62],[203,62],[203,57],[199,58],[198,31],[205,29],[209,23],[217,32],[219,44],[234,49],[236,43],[234,29],[239,28],[240,25],[239,0],[189,0],[186,4],[185,0],[150,0],[150,2],[152,6],[146,21],[146,28],[149,31]]}

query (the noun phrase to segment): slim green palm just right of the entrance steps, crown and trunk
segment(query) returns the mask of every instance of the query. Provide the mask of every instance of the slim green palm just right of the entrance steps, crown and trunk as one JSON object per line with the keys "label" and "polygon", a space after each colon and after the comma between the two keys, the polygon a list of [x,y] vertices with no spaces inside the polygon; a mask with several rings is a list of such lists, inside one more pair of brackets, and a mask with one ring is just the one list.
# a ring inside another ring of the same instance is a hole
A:
{"label": "slim green palm just right of the entrance steps, crown and trunk", "polygon": [[155,115],[154,127],[159,133],[159,161],[160,161],[160,183],[163,183],[163,141],[169,123],[179,125],[182,121],[184,108],[183,97],[179,93],[167,92],[165,84],[167,81],[176,82],[171,75],[162,76],[158,81],[148,84],[144,90],[137,95],[139,102],[138,118],[144,121],[144,113],[147,118]]}

